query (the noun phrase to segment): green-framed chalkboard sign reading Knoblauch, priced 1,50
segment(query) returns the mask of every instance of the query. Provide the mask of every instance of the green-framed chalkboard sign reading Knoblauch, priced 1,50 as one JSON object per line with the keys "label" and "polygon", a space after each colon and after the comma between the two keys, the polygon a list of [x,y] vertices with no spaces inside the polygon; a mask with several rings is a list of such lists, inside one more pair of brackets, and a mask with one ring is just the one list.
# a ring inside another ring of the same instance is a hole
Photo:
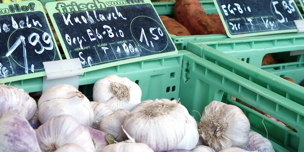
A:
{"label": "green-framed chalkboard sign reading Knoblauch, priced 1,50", "polygon": [[49,2],[47,12],[67,58],[84,71],[177,54],[150,0]]}

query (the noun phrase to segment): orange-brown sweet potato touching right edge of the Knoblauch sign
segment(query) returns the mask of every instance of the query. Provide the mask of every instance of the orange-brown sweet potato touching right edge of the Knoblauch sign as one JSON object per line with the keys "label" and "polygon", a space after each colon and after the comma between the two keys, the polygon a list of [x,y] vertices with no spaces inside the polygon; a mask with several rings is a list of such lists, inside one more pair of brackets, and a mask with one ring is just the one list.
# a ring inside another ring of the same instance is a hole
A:
{"label": "orange-brown sweet potato touching right edge of the Knoblauch sign", "polygon": [[178,21],[175,19],[172,19],[165,15],[160,15],[161,21],[164,23],[164,26],[166,27],[168,33],[174,34],[176,36],[185,36],[185,35],[191,35],[188,29],[181,25]]}

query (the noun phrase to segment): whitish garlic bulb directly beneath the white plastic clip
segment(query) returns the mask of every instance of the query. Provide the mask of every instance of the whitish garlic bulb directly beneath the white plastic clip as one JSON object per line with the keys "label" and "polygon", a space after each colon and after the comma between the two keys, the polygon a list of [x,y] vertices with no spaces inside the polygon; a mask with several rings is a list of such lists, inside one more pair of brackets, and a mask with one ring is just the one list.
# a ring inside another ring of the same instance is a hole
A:
{"label": "whitish garlic bulb directly beneath the white plastic clip", "polygon": [[91,126],[94,120],[89,99],[72,85],[59,84],[45,90],[38,100],[38,109],[38,118],[42,124],[59,115],[73,116],[87,126]]}

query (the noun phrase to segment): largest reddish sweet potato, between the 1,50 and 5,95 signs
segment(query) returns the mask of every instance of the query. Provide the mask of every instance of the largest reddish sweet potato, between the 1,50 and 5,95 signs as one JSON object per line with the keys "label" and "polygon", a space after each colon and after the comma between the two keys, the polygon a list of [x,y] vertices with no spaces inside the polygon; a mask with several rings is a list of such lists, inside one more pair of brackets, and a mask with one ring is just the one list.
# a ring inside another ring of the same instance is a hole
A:
{"label": "largest reddish sweet potato, between the 1,50 and 5,95 signs", "polygon": [[177,0],[174,16],[192,35],[221,33],[221,29],[207,16],[199,0]]}

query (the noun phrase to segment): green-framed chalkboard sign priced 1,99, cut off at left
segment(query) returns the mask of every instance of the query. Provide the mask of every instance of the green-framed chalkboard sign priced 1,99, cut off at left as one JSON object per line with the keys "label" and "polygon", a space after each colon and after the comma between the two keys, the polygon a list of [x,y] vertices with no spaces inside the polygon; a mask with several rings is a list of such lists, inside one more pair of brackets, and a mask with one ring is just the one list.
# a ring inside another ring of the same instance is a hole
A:
{"label": "green-framed chalkboard sign priced 1,99, cut off at left", "polygon": [[60,60],[39,1],[0,4],[0,82],[45,76],[42,62]]}

